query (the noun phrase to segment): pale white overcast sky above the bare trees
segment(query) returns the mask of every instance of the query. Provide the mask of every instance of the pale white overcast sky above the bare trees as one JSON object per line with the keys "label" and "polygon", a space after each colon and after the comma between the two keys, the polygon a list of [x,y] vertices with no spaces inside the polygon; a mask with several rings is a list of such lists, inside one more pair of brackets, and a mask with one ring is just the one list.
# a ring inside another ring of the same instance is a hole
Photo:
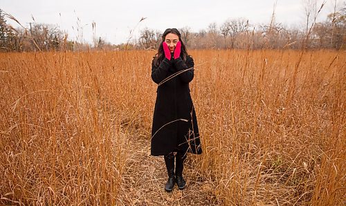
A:
{"label": "pale white overcast sky above the bare trees", "polygon": [[[289,27],[301,26],[304,22],[302,1],[304,0],[277,0],[276,22]],[[319,21],[324,21],[327,14],[333,11],[334,1],[327,0]],[[345,1],[338,2],[342,6]],[[27,28],[28,22],[33,22],[32,16],[36,23],[59,26],[69,33],[69,39],[76,39],[77,28],[82,29],[83,38],[89,42],[93,37],[91,24],[95,22],[96,37],[102,37],[112,44],[120,44],[127,41],[130,30],[135,29],[135,38],[145,27],[163,32],[165,28],[188,26],[197,32],[208,28],[212,22],[219,26],[226,19],[239,17],[248,19],[251,24],[268,24],[274,3],[275,0],[0,0],[0,8]],[[142,17],[147,19],[138,24]],[[17,27],[10,19],[8,23]]]}

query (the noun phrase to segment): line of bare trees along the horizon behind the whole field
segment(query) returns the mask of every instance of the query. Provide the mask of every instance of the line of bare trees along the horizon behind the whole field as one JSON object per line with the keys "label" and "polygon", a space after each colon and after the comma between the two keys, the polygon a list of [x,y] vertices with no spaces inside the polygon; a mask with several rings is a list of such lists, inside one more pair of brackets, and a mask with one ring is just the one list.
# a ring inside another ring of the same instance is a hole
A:
{"label": "line of bare trees along the horizon behind the whole field", "polygon": [[[306,2],[310,2],[307,0]],[[272,21],[267,25],[251,24],[248,19],[227,19],[221,25],[209,24],[208,28],[193,32],[189,27],[179,28],[181,38],[190,49],[345,49],[346,3],[339,10],[327,15],[325,21],[313,21],[311,5],[305,7],[306,27],[286,28]],[[322,8],[322,7],[321,7]],[[317,12],[315,11],[315,15]],[[31,24],[30,28],[13,28],[6,17],[16,19],[0,9],[0,51],[37,50],[156,50],[162,32],[152,28],[140,30],[140,35],[131,41],[114,45],[101,37],[94,38],[93,44],[71,41],[68,34],[57,26]],[[316,17],[315,17],[316,20]],[[17,21],[18,22],[18,21]],[[19,24],[19,22],[18,22]]]}

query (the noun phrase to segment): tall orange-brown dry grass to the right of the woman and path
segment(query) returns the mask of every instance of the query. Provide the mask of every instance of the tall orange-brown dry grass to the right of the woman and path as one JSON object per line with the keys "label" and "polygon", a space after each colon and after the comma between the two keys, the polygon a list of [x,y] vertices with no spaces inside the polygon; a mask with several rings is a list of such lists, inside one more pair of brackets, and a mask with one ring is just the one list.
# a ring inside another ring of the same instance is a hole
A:
{"label": "tall orange-brown dry grass to the right of the woman and path", "polygon": [[201,172],[226,205],[345,204],[345,53],[203,51]]}

